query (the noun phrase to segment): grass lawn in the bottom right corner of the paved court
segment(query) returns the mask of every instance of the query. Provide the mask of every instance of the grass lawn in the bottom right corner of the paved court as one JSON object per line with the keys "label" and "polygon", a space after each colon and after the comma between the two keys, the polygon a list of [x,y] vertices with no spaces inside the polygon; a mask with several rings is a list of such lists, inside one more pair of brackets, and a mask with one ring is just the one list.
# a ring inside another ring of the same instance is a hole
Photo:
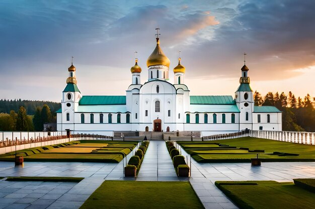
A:
{"label": "grass lawn in the bottom right corner of the paved court", "polygon": [[240,208],[315,208],[315,193],[292,182],[216,181],[215,185]]}

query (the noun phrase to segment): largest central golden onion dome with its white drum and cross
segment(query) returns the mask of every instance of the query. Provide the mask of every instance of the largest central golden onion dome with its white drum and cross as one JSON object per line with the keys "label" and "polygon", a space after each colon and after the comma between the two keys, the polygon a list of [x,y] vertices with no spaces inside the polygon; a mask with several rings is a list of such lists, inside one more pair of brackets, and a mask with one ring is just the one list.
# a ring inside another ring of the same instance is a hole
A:
{"label": "largest central golden onion dome with its white drum and cross", "polygon": [[170,60],[160,47],[159,28],[157,30],[156,47],[146,61],[148,67],[148,80],[169,80]]}

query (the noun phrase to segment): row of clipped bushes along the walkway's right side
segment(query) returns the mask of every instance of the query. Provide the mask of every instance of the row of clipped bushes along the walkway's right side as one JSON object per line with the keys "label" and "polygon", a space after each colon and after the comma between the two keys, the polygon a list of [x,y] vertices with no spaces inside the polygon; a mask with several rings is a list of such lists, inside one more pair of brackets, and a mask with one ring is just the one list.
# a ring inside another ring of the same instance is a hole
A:
{"label": "row of clipped bushes along the walkway's right side", "polygon": [[183,177],[189,176],[190,168],[186,164],[185,157],[180,155],[180,152],[178,149],[176,149],[174,143],[172,141],[166,141],[166,147],[168,148],[170,156],[173,160],[173,165],[177,175]]}

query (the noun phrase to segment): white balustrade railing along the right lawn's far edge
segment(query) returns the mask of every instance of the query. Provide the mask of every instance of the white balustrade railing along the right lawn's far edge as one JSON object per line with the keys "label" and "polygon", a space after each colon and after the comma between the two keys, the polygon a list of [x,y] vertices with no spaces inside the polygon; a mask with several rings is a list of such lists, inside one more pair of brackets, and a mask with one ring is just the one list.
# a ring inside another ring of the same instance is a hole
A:
{"label": "white balustrade railing along the right lawn's far edge", "polygon": [[216,134],[202,137],[203,140],[219,140],[240,137],[256,137],[263,139],[272,139],[277,141],[292,142],[298,144],[315,145],[315,133],[295,132],[295,131],[264,131],[264,130],[243,130],[235,133]]}

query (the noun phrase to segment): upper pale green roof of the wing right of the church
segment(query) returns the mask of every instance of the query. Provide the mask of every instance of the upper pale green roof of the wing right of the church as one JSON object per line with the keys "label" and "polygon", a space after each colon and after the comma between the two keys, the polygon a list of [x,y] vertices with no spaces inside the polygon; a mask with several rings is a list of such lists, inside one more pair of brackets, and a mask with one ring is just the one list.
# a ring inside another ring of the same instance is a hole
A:
{"label": "upper pale green roof of the wing right of the church", "polygon": [[235,104],[232,96],[190,96],[190,104]]}

